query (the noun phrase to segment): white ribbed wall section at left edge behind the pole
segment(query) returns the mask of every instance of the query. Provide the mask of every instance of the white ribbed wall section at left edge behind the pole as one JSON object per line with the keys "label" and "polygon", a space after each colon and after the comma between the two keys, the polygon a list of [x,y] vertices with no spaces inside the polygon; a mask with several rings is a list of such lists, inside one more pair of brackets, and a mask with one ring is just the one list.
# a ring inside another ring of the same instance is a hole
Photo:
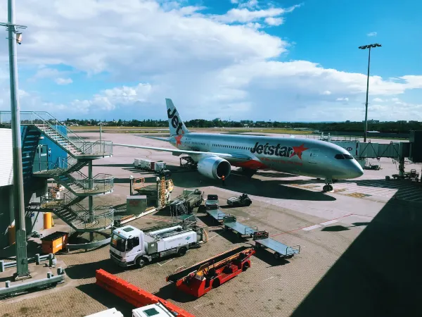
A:
{"label": "white ribbed wall section at left edge behind the pole", "polygon": [[13,183],[12,130],[0,129],[0,186]]}

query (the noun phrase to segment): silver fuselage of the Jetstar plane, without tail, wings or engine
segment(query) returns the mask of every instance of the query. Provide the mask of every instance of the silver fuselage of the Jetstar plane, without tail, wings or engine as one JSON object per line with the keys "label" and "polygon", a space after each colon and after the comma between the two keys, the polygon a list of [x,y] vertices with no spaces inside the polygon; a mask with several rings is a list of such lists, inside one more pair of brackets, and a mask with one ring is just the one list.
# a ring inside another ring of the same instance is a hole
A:
{"label": "silver fuselage of the Jetstar plane, without tail, wings or engine", "polygon": [[[232,166],[252,170],[279,170],[330,180],[357,178],[363,174],[362,167],[348,151],[314,139],[188,133],[171,137],[170,143],[181,150],[236,154],[236,158],[224,159]],[[245,159],[239,159],[242,156]],[[196,161],[202,159],[199,155],[192,157]]]}

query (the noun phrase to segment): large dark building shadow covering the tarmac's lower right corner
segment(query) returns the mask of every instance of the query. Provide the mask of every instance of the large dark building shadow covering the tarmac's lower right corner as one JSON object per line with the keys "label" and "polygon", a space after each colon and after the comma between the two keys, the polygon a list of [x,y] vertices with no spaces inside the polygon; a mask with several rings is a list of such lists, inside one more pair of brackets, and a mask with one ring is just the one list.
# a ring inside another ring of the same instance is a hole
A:
{"label": "large dark building shadow covering the tarmac's lower right corner", "polygon": [[421,204],[389,201],[291,316],[421,316],[421,228]]}

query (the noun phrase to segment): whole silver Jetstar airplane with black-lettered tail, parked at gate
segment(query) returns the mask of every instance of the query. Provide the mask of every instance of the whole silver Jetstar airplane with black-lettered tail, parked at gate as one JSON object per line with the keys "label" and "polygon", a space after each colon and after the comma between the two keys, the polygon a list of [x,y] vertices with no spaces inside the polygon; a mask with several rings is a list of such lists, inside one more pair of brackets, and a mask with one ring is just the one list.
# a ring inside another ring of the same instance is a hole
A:
{"label": "whole silver Jetstar airplane with black-lettered tail, parked at gate", "polygon": [[364,170],[348,151],[326,141],[293,137],[262,137],[190,132],[174,106],[165,99],[170,137],[149,137],[170,142],[175,149],[114,144],[121,147],[169,151],[175,156],[187,154],[198,163],[198,172],[207,178],[228,178],[231,166],[240,167],[252,177],[257,170],[323,178],[324,192],[333,190],[333,180],[359,178]]}

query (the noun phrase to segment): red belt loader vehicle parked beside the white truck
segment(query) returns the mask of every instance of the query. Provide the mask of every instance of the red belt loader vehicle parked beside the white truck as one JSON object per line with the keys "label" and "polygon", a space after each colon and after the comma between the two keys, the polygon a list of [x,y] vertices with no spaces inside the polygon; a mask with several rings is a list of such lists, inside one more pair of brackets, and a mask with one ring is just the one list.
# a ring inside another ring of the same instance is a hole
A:
{"label": "red belt loader vehicle parked beside the white truck", "polygon": [[201,297],[250,268],[252,247],[238,247],[167,276],[178,290]]}

